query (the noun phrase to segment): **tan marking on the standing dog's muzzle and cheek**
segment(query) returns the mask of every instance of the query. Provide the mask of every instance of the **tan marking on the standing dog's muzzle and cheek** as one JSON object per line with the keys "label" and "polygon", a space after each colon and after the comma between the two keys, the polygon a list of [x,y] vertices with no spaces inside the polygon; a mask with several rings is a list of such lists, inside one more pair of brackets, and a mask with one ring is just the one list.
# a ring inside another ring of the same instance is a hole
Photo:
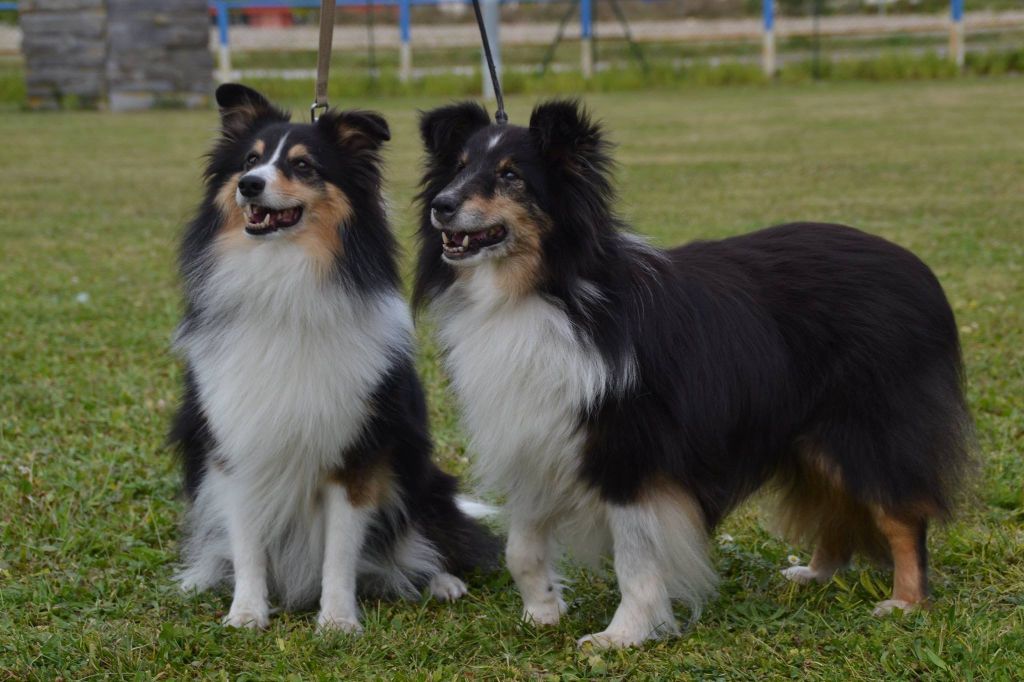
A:
{"label": "tan marking on the standing dog's muzzle and cheek", "polygon": [[497,267],[499,286],[512,298],[534,292],[543,274],[541,239],[549,228],[546,218],[532,215],[528,207],[502,195],[474,197],[463,208],[484,216],[486,224],[503,223],[509,230],[509,250]]}

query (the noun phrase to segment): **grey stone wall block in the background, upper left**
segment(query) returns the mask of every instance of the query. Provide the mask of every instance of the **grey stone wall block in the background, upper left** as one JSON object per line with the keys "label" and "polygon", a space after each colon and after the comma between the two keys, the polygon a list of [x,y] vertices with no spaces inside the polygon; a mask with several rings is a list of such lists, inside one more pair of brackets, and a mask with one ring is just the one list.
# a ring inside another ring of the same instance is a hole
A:
{"label": "grey stone wall block in the background, upper left", "polygon": [[205,0],[22,0],[29,105],[205,106]]}

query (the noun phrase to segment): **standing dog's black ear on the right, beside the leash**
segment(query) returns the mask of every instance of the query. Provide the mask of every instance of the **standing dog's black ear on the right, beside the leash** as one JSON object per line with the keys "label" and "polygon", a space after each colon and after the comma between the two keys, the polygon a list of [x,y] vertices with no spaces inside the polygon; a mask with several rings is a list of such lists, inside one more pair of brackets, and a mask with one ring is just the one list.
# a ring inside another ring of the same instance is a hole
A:
{"label": "standing dog's black ear on the right, beside the leash", "polygon": [[599,123],[594,123],[580,101],[556,99],[538,104],[529,117],[529,132],[541,155],[573,171],[604,170],[607,143]]}

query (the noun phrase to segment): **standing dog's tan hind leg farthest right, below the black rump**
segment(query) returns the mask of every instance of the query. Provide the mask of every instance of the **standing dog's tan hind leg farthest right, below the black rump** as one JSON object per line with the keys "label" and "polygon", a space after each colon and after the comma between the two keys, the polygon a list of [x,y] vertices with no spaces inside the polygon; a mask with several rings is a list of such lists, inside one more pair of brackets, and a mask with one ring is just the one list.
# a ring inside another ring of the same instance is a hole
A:
{"label": "standing dog's tan hind leg farthest right, below the black rump", "polygon": [[928,597],[928,521],[908,520],[882,509],[876,512],[874,521],[892,553],[893,594],[876,604],[873,613],[912,610]]}

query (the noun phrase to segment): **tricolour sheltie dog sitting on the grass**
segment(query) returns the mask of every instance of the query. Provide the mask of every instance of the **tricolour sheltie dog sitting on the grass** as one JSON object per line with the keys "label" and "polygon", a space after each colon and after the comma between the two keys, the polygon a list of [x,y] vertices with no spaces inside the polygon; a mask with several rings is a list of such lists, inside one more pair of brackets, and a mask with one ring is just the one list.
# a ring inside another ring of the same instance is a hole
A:
{"label": "tricolour sheltie dog sitting on the grass", "polygon": [[186,363],[170,439],[183,458],[182,586],[233,582],[226,625],[319,600],[358,631],[356,588],[439,599],[497,561],[431,461],[413,331],[398,291],[368,112],[288,122],[217,90],[222,134],[180,251]]}

